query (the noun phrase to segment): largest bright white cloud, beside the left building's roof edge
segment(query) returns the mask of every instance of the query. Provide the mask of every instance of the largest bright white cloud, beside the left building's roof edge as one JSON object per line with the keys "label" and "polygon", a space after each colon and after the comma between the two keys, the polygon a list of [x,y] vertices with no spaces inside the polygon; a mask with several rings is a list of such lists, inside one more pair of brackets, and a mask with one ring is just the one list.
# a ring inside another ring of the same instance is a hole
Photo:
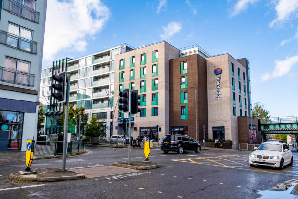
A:
{"label": "largest bright white cloud, beside the left building's roof edge", "polygon": [[110,16],[100,0],[48,0],[43,57],[61,51],[84,51],[87,38],[98,34]]}

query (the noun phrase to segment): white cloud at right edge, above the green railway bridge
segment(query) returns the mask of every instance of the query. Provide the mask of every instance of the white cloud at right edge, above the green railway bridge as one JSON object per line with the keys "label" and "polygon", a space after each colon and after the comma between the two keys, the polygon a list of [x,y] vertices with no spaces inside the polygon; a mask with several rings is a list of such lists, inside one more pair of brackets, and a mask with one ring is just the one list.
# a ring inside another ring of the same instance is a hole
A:
{"label": "white cloud at right edge, above the green railway bridge", "polygon": [[265,73],[261,76],[263,81],[271,78],[281,77],[289,73],[294,65],[298,65],[298,55],[285,60],[275,60],[275,67],[271,73]]}

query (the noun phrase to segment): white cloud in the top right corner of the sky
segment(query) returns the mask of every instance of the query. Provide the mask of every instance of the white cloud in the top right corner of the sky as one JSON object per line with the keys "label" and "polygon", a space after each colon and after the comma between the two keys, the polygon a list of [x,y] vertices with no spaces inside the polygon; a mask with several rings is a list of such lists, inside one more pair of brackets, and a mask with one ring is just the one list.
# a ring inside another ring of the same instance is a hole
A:
{"label": "white cloud in the top right corner of the sky", "polygon": [[273,27],[275,23],[289,20],[293,15],[297,16],[298,0],[279,0],[275,6],[277,18],[270,23]]}

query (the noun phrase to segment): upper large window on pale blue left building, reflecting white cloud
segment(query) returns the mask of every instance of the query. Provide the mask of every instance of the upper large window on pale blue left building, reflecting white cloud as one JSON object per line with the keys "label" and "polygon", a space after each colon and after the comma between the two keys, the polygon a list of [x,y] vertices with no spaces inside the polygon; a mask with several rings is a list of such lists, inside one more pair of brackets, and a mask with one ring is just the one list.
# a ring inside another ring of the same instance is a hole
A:
{"label": "upper large window on pale blue left building, reflecting white cloud", "polygon": [[[6,44],[13,46],[15,48],[32,52],[31,43],[32,43],[32,35],[33,31],[21,27],[16,24],[9,23],[8,24],[8,35]],[[36,54],[35,52],[32,52]]]}

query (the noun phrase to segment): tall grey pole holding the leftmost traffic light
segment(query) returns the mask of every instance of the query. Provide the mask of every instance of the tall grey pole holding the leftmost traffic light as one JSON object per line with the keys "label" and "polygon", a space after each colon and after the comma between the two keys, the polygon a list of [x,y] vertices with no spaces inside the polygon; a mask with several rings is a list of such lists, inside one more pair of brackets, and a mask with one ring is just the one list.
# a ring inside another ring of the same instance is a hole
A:
{"label": "tall grey pole holding the leftmost traffic light", "polygon": [[63,158],[62,158],[62,171],[65,171],[66,152],[67,152],[67,130],[68,130],[68,106],[69,106],[69,85],[70,75],[67,75],[66,81],[66,96],[65,96],[65,117],[64,117],[64,138],[63,138]]}

